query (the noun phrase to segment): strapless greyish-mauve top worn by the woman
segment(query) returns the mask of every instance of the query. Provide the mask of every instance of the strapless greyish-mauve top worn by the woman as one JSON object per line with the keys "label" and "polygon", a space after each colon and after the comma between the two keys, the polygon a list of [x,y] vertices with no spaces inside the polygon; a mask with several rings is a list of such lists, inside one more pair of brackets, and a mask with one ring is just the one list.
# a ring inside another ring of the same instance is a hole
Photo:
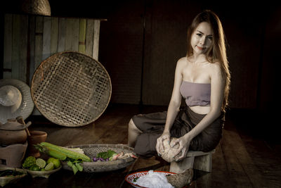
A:
{"label": "strapless greyish-mauve top worn by the woman", "polygon": [[211,84],[181,83],[181,95],[188,106],[209,106],[211,101]]}

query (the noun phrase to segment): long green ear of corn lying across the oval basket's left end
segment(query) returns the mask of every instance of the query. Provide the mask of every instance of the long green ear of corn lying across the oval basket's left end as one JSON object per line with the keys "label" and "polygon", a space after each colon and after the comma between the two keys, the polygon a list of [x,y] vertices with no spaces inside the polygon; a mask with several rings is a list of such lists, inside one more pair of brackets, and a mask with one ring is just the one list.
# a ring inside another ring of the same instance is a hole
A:
{"label": "long green ear of corn lying across the oval basket's left end", "polygon": [[89,158],[89,156],[86,156],[83,153],[72,151],[70,149],[66,149],[62,146],[57,146],[55,144],[51,144],[51,143],[48,143],[48,142],[41,142],[39,144],[39,146],[46,149],[46,152],[51,152],[51,154],[58,155],[62,158],[63,158],[63,155],[65,155],[66,157],[73,158],[75,160],[81,159],[82,161],[91,162],[91,158]]}

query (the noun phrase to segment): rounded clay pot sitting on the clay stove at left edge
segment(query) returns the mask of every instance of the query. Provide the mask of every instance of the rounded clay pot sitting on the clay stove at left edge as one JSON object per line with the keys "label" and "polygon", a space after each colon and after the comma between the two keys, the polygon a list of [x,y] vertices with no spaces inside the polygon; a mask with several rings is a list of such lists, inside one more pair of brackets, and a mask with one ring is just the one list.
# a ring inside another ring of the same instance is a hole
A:
{"label": "rounded clay pot sitting on the clay stove at left edge", "polygon": [[0,125],[0,145],[24,144],[27,141],[26,129],[31,123],[22,125],[16,119],[8,119],[7,123]]}

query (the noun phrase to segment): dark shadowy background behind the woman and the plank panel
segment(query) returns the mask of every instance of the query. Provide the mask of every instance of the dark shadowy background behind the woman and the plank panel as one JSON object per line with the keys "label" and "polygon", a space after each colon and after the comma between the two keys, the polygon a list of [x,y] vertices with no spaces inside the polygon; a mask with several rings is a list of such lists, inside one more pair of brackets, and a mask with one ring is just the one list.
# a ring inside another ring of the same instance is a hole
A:
{"label": "dark shadowy background behind the woman and the plank panel", "polygon": [[[20,13],[20,1],[1,7]],[[274,1],[67,1],[49,0],[52,16],[105,18],[99,61],[112,80],[111,102],[167,106],[178,58],[186,53],[186,30],[204,9],[223,24],[231,71],[230,108],[252,130],[277,134],[280,94],[281,6]],[[3,37],[1,37],[3,63]],[[1,65],[2,68],[2,65]],[[2,71],[0,71],[2,73]],[[244,123],[243,123],[244,125]],[[259,125],[259,126],[257,126]],[[275,135],[277,136],[277,135]]]}

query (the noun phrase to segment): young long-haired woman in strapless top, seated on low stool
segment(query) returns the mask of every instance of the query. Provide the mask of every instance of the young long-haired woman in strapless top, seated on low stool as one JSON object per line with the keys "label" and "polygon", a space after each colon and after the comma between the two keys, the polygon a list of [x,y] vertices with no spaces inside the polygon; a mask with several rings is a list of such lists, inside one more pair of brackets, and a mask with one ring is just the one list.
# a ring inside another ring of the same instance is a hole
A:
{"label": "young long-haired woman in strapless top, seated on low stool", "polygon": [[[187,56],[178,60],[168,111],[134,115],[129,122],[129,146],[150,157],[164,149],[164,139],[176,137],[175,160],[188,150],[211,151],[221,139],[228,104],[230,72],[225,36],[218,16],[203,11],[188,29]],[[186,106],[181,108],[181,99]]]}

